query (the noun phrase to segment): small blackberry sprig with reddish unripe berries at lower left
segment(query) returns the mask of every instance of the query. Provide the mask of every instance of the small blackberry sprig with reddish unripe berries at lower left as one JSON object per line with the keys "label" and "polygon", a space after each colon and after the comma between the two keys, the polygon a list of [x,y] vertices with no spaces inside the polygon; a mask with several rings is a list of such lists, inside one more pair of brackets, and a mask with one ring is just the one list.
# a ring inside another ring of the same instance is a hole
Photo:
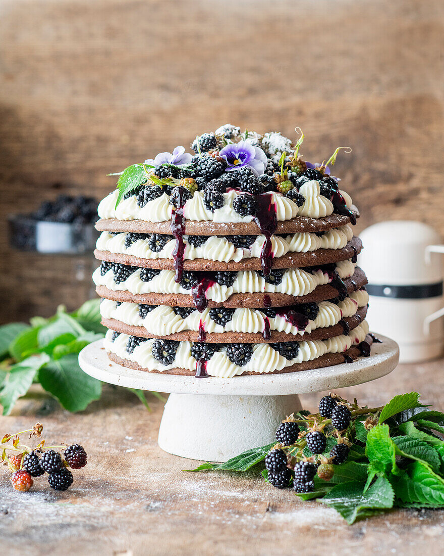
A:
{"label": "small blackberry sprig with reddish unripe berries at lower left", "polygon": [[[68,468],[80,469],[87,464],[87,453],[83,446],[45,446],[42,439],[35,448],[31,448],[20,439],[20,435],[30,433],[41,436],[43,425],[37,423],[32,429],[19,433],[6,434],[1,440],[1,459],[12,471],[11,483],[14,489],[27,492],[33,485],[33,478],[48,474],[48,483],[54,490],[67,490],[73,483],[73,475]],[[63,450],[59,453],[56,450]]]}

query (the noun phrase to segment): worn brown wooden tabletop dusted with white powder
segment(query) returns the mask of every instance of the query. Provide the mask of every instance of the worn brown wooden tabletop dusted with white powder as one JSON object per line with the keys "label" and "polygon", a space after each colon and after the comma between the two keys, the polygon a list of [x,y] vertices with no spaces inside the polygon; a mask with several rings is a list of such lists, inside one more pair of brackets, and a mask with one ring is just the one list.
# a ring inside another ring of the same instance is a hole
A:
{"label": "worn brown wooden tabletop dusted with white powder", "polygon": [[[341,394],[375,406],[412,390],[442,410],[443,360],[399,365]],[[315,410],[320,397],[301,396],[302,405]],[[149,402],[150,413],[132,393],[107,385],[99,402],[72,415],[36,389],[0,418],[1,436],[41,421],[47,442],[78,442],[89,458],[62,493],[44,478],[29,493],[16,492],[0,471],[2,554],[443,553],[444,510],[395,510],[349,526],[335,510],[251,474],[183,471],[196,463],[158,448],[163,404]]]}

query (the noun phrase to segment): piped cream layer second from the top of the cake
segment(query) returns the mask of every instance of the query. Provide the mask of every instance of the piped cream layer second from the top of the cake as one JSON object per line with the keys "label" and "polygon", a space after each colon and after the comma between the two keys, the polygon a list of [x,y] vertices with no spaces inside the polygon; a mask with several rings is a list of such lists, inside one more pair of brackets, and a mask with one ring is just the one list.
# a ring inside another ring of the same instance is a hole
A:
{"label": "piped cream layer second from the top of the cake", "polygon": [[[162,251],[152,251],[148,244],[148,239],[139,239],[129,247],[125,246],[127,234],[109,234],[102,232],[97,240],[97,249],[109,251],[114,254],[133,255],[140,259],[173,259],[173,249],[175,239],[166,242]],[[271,251],[273,257],[278,258],[286,255],[287,252],[305,253],[316,251],[317,249],[343,249],[352,239],[352,227],[347,224],[339,228],[331,229],[322,236],[317,236],[310,232],[298,232],[286,237],[276,235],[271,236]],[[194,261],[194,259],[206,259],[210,261],[239,262],[243,259],[259,258],[265,242],[265,236],[259,235],[249,248],[236,248],[225,237],[209,236],[203,245],[194,247],[184,236],[185,253],[184,259]]]}

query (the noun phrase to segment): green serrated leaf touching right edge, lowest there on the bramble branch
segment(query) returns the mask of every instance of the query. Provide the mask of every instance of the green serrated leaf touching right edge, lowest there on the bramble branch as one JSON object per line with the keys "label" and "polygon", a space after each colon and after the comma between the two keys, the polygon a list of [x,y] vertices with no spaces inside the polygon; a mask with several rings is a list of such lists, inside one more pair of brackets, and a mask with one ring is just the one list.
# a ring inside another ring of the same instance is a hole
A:
{"label": "green serrated leaf touching right edge, lowest there on the bramble branch", "polygon": [[414,461],[402,475],[392,476],[391,483],[403,503],[444,507],[444,479],[421,461]]}

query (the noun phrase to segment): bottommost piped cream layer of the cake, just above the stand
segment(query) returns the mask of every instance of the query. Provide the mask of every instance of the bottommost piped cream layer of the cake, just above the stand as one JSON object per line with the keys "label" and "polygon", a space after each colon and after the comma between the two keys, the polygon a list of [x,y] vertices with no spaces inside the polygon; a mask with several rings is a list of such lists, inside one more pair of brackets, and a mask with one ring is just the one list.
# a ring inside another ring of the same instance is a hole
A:
{"label": "bottommost piped cream layer of the cake, just above the stand", "polygon": [[[282,370],[302,361],[312,361],[321,355],[328,353],[342,353],[349,349],[352,345],[360,344],[365,340],[365,336],[369,331],[366,321],[350,332],[349,336],[341,335],[329,338],[328,340],[309,340],[299,342],[299,351],[294,359],[286,359],[275,351],[269,344],[253,344],[253,355],[246,365],[238,366],[228,358],[226,347],[222,346],[216,351],[209,361],[206,362],[206,372],[210,376],[218,376],[219,378],[231,378],[241,375],[248,371],[255,373],[271,373],[275,370]],[[194,371],[196,369],[196,360],[191,356],[192,342],[179,342],[175,360],[170,365],[163,365],[152,355],[152,346],[155,339],[141,342],[134,348],[132,354],[126,350],[129,336],[120,334],[111,341],[113,335],[112,330],[108,330],[105,336],[105,349],[112,352],[122,359],[128,359],[133,363],[138,363],[142,368],[151,371],[165,371],[168,369],[186,369]]]}

